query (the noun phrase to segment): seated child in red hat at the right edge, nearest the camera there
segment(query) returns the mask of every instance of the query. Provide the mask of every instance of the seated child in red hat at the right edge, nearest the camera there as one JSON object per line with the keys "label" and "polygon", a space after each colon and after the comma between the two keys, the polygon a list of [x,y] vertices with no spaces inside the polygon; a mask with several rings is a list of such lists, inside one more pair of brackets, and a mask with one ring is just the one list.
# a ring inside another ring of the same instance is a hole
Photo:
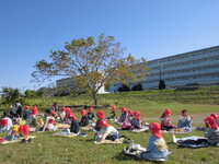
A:
{"label": "seated child in red hat at the right edge, nearest the camera there", "polygon": [[208,116],[204,119],[207,126],[207,131],[205,132],[205,137],[208,138],[208,142],[211,144],[219,143],[219,127],[216,124],[216,119],[211,116]]}

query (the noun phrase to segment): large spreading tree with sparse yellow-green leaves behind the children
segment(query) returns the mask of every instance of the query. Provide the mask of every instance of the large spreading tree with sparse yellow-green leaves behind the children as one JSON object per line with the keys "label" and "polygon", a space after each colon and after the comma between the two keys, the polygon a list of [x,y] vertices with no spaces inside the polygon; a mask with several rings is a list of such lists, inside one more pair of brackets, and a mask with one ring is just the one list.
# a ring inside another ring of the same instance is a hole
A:
{"label": "large spreading tree with sparse yellow-green leaves behind the children", "polygon": [[36,82],[53,77],[73,78],[83,83],[97,105],[97,92],[112,82],[129,83],[147,77],[146,60],[124,56],[124,48],[113,36],[100,35],[73,39],[64,50],[50,51],[50,61],[41,60],[32,73]]}

